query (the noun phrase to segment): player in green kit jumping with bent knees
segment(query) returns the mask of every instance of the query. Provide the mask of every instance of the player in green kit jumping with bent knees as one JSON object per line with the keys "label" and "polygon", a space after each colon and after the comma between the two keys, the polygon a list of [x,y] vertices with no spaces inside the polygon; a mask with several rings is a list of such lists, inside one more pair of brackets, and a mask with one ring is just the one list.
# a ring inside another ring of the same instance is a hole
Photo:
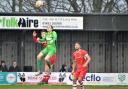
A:
{"label": "player in green kit jumping with bent knees", "polygon": [[37,70],[38,73],[36,75],[42,74],[41,72],[41,58],[44,56],[44,60],[46,61],[49,72],[51,72],[51,63],[50,58],[56,53],[56,40],[57,40],[57,33],[53,31],[53,26],[48,25],[47,32],[44,33],[44,36],[40,39],[38,38],[37,41],[40,43],[47,43],[47,46],[37,55]]}

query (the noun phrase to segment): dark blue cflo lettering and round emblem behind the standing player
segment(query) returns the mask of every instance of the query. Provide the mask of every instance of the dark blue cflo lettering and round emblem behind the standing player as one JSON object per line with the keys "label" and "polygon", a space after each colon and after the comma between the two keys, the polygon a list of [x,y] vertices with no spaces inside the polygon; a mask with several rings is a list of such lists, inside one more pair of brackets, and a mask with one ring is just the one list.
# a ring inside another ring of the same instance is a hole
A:
{"label": "dark blue cflo lettering and round emblem behind the standing player", "polygon": [[[69,80],[72,81],[73,80],[73,76],[69,75]],[[95,74],[91,74],[88,75],[84,78],[85,81],[101,81],[101,77],[100,76],[96,76]]]}

